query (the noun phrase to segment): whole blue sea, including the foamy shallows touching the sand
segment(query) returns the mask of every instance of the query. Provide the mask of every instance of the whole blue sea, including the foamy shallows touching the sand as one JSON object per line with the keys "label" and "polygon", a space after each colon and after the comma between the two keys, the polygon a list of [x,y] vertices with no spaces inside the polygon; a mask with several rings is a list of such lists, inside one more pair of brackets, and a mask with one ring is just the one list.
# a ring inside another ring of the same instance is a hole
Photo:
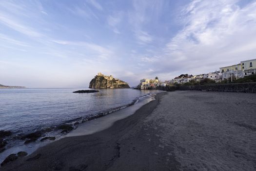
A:
{"label": "whole blue sea, including the foamy shallows touching the sand", "polygon": [[[99,89],[96,93],[73,93],[89,88],[7,88],[0,89],[0,130],[10,130],[5,137],[6,150],[0,152],[0,163],[19,151],[32,153],[50,143],[42,137],[85,135],[110,127],[115,121],[133,114],[139,107],[154,100],[161,90]],[[70,124],[66,133],[56,128]],[[33,143],[24,145],[22,135],[46,130]],[[55,140],[55,141],[56,141]]]}

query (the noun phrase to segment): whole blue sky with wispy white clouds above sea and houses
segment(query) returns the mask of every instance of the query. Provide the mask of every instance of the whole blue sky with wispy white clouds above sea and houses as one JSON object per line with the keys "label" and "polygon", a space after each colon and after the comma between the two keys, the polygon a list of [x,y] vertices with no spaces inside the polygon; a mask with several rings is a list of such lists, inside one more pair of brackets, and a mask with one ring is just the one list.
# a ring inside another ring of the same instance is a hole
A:
{"label": "whole blue sky with wispy white clouds above sea and houses", "polygon": [[0,0],[0,84],[130,86],[256,58],[256,0]]}

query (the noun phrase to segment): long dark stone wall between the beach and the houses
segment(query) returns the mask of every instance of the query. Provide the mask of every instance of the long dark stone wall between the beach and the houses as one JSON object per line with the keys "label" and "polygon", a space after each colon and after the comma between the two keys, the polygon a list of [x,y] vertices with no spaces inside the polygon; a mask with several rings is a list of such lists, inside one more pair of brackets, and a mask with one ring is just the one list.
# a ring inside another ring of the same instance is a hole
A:
{"label": "long dark stone wall between the beach and the houses", "polygon": [[256,93],[256,83],[194,85],[194,86],[182,86],[182,85],[180,85],[180,86],[160,87],[158,89],[165,90],[165,91],[199,90],[199,91]]}

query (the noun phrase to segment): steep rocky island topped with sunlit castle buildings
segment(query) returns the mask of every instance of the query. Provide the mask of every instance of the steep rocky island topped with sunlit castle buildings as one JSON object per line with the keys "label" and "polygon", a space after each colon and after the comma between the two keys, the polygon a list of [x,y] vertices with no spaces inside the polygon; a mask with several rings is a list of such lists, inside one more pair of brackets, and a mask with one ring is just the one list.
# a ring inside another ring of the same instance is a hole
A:
{"label": "steep rocky island topped with sunlit castle buildings", "polygon": [[113,78],[112,75],[106,76],[99,72],[90,82],[89,88],[130,88],[130,86],[122,80]]}

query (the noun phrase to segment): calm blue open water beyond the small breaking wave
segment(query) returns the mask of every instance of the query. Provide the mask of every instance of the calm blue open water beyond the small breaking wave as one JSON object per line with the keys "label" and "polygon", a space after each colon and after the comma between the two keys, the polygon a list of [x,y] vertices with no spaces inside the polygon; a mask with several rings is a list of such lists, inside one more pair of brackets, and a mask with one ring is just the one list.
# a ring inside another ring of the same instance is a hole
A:
{"label": "calm blue open water beyond the small breaking wave", "polygon": [[[86,88],[79,88],[86,89]],[[28,132],[126,106],[152,91],[101,89],[72,93],[78,88],[0,89],[0,130]]]}

